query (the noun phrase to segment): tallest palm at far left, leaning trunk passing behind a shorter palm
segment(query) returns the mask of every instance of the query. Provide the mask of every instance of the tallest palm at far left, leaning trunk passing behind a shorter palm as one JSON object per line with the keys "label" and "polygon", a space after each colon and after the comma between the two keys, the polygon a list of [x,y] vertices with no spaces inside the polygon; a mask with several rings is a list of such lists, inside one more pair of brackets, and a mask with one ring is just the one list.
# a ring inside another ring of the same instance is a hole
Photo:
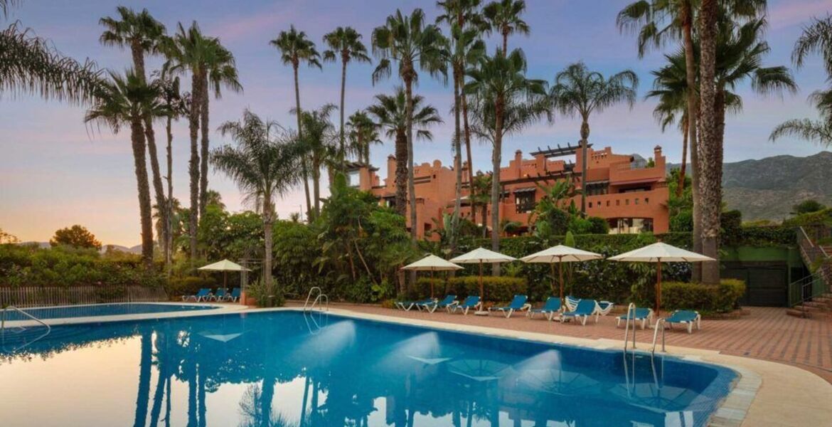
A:
{"label": "tallest palm at far left, leaning trunk passing behind a shorter palm", "polygon": [[[147,9],[136,12],[125,6],[116,7],[118,17],[102,17],[98,20],[105,30],[102,32],[99,41],[104,46],[116,46],[130,49],[133,57],[133,69],[141,82],[146,82],[145,55],[159,53],[162,39],[165,37],[165,26],[156,21]],[[161,182],[161,171],[159,167],[159,156],[156,151],[156,133],[153,132],[153,118],[144,117],[144,132],[147,144],[147,154],[150,156],[153,190],[156,196],[156,204],[165,204],[165,188]],[[162,215],[166,211],[162,210]],[[167,220],[163,219],[162,241],[166,241]]]}

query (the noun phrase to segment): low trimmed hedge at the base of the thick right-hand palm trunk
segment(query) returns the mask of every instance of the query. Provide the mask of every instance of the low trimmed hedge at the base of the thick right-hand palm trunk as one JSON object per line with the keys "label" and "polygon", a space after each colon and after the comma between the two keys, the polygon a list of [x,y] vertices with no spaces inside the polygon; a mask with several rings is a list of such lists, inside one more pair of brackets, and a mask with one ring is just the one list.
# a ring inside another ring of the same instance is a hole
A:
{"label": "low trimmed hedge at the base of the thick right-hand palm trunk", "polygon": [[745,282],[723,279],[719,285],[666,282],[661,285],[661,305],[667,310],[699,310],[725,313],[740,305]]}

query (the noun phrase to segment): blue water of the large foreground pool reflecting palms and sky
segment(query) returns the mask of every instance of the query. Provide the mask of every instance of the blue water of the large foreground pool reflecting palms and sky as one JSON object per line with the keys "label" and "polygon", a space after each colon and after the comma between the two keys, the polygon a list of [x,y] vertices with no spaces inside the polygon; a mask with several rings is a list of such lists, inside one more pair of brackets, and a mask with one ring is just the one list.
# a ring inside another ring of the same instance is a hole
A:
{"label": "blue water of the large foreground pool reflecting palms and sky", "polygon": [[735,379],[296,311],[57,326],[27,345],[37,333],[3,337],[2,425],[701,426]]}

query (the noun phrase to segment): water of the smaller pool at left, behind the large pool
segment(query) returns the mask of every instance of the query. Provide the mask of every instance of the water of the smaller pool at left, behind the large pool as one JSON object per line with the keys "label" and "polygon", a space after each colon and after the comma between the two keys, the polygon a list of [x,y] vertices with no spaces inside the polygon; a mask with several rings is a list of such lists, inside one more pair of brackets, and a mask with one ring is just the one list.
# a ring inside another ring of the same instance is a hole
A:
{"label": "water of the smaller pool at left, behind the large pool", "polygon": [[[23,309],[38,319],[62,319],[66,317],[90,317],[97,315],[144,315],[151,313],[170,313],[172,311],[212,310],[216,305],[196,304],[153,304],[153,303],[119,303],[96,305],[67,305],[62,307],[43,307]],[[28,317],[14,310],[8,310],[6,320],[29,320]]]}

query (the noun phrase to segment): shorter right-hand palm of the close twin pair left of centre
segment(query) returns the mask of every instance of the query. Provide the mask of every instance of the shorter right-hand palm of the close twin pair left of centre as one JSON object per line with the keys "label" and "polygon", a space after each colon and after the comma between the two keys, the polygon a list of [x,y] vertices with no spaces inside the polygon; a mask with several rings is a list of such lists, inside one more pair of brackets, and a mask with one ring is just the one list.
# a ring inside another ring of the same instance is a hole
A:
{"label": "shorter right-hand palm of the close twin pair left of centre", "polygon": [[222,87],[227,87],[234,92],[242,92],[243,90],[237,76],[234,55],[220,44],[219,38],[208,38],[203,69],[205,72],[201,73],[200,76],[202,78],[200,91],[200,133],[202,135],[200,142],[200,216],[205,214],[208,205],[209,93],[214,92],[214,97],[220,99],[222,97]]}

